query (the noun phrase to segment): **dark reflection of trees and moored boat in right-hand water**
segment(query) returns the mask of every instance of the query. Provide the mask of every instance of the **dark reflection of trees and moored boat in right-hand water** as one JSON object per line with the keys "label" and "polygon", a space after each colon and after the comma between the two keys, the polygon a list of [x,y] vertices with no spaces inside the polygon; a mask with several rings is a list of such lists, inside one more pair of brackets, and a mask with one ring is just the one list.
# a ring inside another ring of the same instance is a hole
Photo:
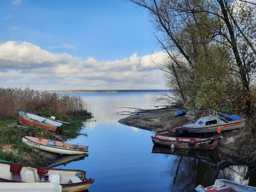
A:
{"label": "dark reflection of trees and moored boat in right-hand water", "polygon": [[255,170],[220,157],[209,150],[179,150],[154,145],[152,153],[172,155],[167,169],[170,176],[170,192],[192,192],[199,184],[210,186],[217,178],[243,184],[256,185]]}

